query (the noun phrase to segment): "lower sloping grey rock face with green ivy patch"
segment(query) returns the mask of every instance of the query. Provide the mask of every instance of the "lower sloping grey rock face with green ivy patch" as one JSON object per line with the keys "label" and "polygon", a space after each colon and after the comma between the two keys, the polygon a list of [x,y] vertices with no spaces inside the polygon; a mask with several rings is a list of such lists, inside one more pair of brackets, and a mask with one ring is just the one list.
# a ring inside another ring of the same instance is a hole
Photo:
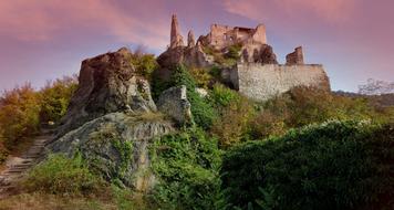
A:
{"label": "lower sloping grey rock face with green ivy patch", "polygon": [[68,133],[48,148],[69,157],[79,151],[90,168],[105,179],[147,191],[155,183],[148,145],[152,138],[173,130],[159,114],[111,113]]}

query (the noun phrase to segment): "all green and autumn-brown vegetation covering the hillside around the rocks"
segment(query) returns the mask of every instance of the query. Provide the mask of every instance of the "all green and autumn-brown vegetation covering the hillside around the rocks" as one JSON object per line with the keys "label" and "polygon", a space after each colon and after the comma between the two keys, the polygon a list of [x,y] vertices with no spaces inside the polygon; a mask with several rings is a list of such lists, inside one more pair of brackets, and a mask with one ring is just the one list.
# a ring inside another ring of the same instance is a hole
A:
{"label": "all green and autumn-brown vegetation covering the hillside around the rocks", "polygon": [[[221,56],[228,64],[239,51],[234,45]],[[75,200],[85,209],[393,207],[393,107],[309,87],[257,103],[220,84],[218,67],[177,65],[164,82],[152,77],[157,67],[153,55],[135,53],[131,62],[151,80],[154,98],[168,87],[185,85],[191,104],[191,125],[149,143],[154,189],[146,195],[121,189],[77,154],[50,155],[20,183],[22,193],[1,206],[24,197],[56,200],[64,204],[59,208],[71,208],[65,200]],[[208,95],[203,97],[196,87]],[[27,84],[4,92],[0,162],[41,124],[59,123],[75,88],[75,77],[64,77],[40,91]],[[122,174],[132,147],[113,144],[123,151]]]}

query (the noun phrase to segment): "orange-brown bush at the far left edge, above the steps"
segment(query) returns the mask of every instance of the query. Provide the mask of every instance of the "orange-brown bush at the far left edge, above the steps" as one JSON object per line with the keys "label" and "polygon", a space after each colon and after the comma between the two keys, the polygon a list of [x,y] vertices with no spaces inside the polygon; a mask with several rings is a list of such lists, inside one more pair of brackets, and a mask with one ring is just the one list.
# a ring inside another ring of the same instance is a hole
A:
{"label": "orange-brown bush at the far left edge, above the steps", "polygon": [[40,98],[30,84],[6,91],[0,97],[0,129],[8,149],[39,132]]}

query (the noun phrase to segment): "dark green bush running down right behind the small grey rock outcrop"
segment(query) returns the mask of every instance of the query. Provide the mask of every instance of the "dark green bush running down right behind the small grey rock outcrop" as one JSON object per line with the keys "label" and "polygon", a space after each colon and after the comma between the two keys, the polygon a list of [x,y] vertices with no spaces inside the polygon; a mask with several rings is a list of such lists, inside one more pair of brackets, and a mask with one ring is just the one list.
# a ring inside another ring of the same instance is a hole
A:
{"label": "dark green bush running down right behind the small grey rock outcrop", "polygon": [[187,87],[187,98],[191,104],[194,122],[198,126],[209,129],[217,117],[217,113],[210,104],[196,92],[196,81],[184,65],[178,65],[174,69],[170,84],[172,86],[185,85]]}

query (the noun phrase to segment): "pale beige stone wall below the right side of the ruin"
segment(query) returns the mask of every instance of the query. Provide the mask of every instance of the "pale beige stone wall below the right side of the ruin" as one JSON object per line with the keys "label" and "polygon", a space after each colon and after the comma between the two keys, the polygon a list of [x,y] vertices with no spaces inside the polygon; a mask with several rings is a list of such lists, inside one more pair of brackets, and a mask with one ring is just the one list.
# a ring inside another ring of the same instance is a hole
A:
{"label": "pale beige stone wall below the right side of the ruin", "polygon": [[239,63],[229,76],[235,88],[256,101],[267,101],[296,86],[313,86],[330,91],[322,65],[278,65]]}

